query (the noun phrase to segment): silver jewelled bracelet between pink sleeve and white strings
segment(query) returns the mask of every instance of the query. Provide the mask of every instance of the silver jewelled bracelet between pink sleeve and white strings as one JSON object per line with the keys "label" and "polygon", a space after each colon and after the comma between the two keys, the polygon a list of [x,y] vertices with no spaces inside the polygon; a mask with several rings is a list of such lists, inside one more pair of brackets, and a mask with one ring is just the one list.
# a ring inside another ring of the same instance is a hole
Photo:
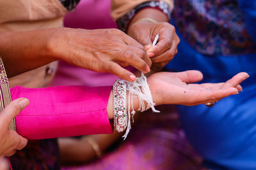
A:
{"label": "silver jewelled bracelet between pink sleeve and white strings", "polygon": [[127,127],[126,85],[121,79],[117,79],[113,85],[114,126],[118,132]]}

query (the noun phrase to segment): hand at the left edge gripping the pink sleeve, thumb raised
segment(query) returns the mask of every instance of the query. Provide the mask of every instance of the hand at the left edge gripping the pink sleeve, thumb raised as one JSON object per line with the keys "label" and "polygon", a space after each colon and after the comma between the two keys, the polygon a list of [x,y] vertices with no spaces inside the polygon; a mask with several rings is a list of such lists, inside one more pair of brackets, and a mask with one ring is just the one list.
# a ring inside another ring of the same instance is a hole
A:
{"label": "hand at the left edge gripping the pink sleeve, thumb raised", "polygon": [[28,139],[9,130],[9,125],[12,118],[15,118],[28,104],[28,99],[16,99],[0,112],[0,157],[10,157],[16,150],[21,150],[27,145]]}

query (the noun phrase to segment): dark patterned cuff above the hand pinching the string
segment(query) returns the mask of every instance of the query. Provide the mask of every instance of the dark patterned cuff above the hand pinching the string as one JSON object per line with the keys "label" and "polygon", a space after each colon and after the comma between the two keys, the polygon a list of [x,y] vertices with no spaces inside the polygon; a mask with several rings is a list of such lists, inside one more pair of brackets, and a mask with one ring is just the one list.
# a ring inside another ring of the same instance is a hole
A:
{"label": "dark patterned cuff above the hand pinching the string", "polygon": [[168,6],[168,4],[164,1],[148,1],[136,6],[136,8],[132,9],[124,16],[118,18],[118,20],[116,20],[118,28],[126,32],[127,27],[132,18],[134,17],[134,15],[138,13],[140,10],[143,10],[144,8],[154,8],[157,10],[161,10],[163,11],[163,13],[165,13],[165,15],[167,15],[168,18],[170,18],[170,14],[172,12],[170,6]]}

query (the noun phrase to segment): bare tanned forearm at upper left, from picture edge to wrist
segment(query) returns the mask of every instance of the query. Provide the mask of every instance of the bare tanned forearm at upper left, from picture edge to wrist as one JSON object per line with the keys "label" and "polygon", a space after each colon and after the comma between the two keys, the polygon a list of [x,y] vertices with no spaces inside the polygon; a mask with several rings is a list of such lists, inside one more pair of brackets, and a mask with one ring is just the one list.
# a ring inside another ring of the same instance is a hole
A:
{"label": "bare tanned forearm at upper left, from picture edge to wrist", "polygon": [[51,38],[58,29],[0,32],[0,57],[8,77],[58,60],[51,49]]}

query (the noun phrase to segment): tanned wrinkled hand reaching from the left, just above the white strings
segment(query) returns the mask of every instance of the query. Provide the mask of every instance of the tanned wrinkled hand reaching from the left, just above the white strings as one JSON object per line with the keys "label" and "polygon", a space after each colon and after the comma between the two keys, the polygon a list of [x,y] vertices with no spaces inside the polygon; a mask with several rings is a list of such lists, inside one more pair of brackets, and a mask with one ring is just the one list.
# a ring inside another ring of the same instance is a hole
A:
{"label": "tanned wrinkled hand reaching from the left, just above the white strings", "polygon": [[116,74],[127,81],[136,77],[121,66],[147,73],[151,60],[143,45],[118,29],[63,28],[52,38],[52,49],[60,59],[85,69]]}

